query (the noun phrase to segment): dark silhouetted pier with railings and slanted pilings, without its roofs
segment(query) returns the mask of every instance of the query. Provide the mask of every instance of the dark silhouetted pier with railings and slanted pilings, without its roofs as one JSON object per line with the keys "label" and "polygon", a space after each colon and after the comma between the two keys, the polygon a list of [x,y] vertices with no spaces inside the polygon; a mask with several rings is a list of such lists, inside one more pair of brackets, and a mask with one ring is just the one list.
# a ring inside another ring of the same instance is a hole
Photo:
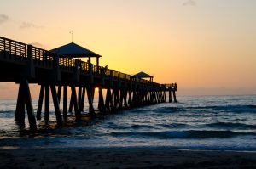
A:
{"label": "dark silhouetted pier with railings and slanted pilings, without its roofs", "polygon": [[[16,82],[19,84],[15,121],[25,126],[27,113],[30,129],[37,129],[36,119],[41,119],[44,102],[44,120],[49,121],[50,93],[55,107],[57,124],[67,119],[67,112],[73,111],[77,120],[84,111],[84,99],[87,96],[89,113],[96,116],[93,106],[95,88],[98,88],[97,109],[105,113],[115,110],[136,108],[143,105],[166,102],[177,102],[177,84],[159,84],[143,78],[127,75],[119,71],[93,65],[90,62],[49,52],[22,42],[0,37],[0,82]],[[40,86],[37,115],[34,115],[29,84]],[[57,87],[57,89],[56,89]],[[70,87],[71,97],[67,92]],[[78,90],[77,90],[78,89]],[[107,90],[106,96],[102,90]],[[86,94],[85,94],[86,93]],[[63,99],[63,110],[60,99]],[[69,101],[69,102],[68,102]],[[68,107],[69,103],[69,107]]]}

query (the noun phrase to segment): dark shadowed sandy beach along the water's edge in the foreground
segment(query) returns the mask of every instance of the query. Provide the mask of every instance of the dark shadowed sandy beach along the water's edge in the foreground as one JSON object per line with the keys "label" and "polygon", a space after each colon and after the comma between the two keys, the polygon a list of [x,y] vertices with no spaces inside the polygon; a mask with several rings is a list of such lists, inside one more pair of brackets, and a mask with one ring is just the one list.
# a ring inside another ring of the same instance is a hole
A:
{"label": "dark shadowed sandy beach along the water's edge in the foreground", "polygon": [[0,168],[256,168],[256,153],[163,149],[1,149]]}

